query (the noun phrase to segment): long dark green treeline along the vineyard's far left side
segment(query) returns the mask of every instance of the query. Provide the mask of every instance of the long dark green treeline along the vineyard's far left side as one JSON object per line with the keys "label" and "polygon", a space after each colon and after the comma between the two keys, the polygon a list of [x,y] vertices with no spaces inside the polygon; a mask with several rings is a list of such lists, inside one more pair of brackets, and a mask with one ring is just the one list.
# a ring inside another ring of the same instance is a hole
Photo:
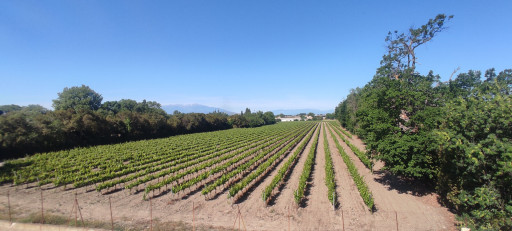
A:
{"label": "long dark green treeline along the vineyard's far left side", "polygon": [[276,122],[272,112],[251,113],[249,109],[243,115],[232,116],[178,111],[169,115],[153,101],[102,103],[101,95],[84,85],[65,88],[58,95],[53,101],[54,111],[39,105],[0,106],[0,159]]}

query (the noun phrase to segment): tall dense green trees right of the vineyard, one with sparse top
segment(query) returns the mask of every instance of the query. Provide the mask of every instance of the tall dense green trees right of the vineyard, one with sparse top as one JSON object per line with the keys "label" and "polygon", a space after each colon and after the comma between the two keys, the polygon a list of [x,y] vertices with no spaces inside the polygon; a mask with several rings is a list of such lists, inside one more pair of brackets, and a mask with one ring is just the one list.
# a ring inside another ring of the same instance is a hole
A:
{"label": "tall dense green trees right of the vineyard, one with sparse top", "polygon": [[452,74],[446,82],[415,71],[414,48],[450,18],[390,33],[382,66],[335,116],[385,169],[434,185],[465,225],[512,230],[512,69]]}

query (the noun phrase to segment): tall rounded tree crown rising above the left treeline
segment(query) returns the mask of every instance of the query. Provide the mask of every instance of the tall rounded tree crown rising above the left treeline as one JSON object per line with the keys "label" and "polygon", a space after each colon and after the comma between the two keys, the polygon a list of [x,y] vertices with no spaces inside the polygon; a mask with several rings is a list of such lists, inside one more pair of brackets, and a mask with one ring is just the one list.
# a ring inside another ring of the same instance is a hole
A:
{"label": "tall rounded tree crown rising above the left treeline", "polygon": [[58,98],[53,100],[55,110],[92,110],[96,111],[101,107],[103,97],[88,86],[64,88],[58,93]]}

